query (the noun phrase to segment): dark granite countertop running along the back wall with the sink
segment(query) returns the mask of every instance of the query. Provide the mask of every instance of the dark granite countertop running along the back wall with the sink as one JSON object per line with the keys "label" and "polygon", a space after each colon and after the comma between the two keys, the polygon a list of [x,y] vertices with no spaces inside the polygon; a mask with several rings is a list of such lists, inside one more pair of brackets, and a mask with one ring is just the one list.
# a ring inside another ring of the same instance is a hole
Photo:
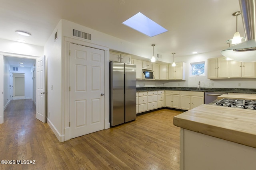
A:
{"label": "dark granite countertop running along the back wall with the sink", "polygon": [[155,90],[180,90],[180,91],[197,91],[197,92],[226,92],[226,93],[250,93],[256,94],[255,88],[201,88],[195,87],[137,87],[137,92],[155,91]]}

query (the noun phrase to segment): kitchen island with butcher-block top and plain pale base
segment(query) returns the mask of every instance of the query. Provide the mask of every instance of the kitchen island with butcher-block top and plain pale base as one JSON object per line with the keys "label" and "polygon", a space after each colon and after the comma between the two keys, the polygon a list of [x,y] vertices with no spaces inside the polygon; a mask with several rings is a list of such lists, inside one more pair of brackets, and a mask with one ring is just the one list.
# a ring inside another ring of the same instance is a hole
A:
{"label": "kitchen island with butcher-block top and plain pale base", "polygon": [[256,110],[201,105],[174,117],[180,170],[255,170]]}

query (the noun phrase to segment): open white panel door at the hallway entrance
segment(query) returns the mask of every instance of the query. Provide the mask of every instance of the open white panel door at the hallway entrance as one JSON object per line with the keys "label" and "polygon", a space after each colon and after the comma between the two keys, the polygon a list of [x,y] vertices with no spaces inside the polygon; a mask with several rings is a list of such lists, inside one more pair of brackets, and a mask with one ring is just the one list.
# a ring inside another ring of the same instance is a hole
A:
{"label": "open white panel door at the hallway entrance", "polygon": [[36,59],[36,119],[45,123],[45,57]]}

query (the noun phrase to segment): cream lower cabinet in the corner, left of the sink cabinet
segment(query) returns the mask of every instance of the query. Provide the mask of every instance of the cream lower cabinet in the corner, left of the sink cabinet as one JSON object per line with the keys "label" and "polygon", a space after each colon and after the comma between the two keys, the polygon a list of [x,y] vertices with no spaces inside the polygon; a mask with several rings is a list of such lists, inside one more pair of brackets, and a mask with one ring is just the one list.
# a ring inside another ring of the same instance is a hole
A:
{"label": "cream lower cabinet in the corner, left of the sink cabinet", "polygon": [[180,91],[165,91],[165,106],[180,109]]}

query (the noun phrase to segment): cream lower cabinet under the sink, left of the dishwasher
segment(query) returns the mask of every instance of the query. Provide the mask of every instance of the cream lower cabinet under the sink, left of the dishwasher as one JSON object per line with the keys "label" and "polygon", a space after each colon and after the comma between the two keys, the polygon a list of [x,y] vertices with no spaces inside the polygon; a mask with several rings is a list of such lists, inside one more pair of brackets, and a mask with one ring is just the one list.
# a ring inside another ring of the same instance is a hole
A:
{"label": "cream lower cabinet under the sink, left of the dishwasher", "polygon": [[204,104],[204,92],[180,92],[180,109],[190,110]]}

